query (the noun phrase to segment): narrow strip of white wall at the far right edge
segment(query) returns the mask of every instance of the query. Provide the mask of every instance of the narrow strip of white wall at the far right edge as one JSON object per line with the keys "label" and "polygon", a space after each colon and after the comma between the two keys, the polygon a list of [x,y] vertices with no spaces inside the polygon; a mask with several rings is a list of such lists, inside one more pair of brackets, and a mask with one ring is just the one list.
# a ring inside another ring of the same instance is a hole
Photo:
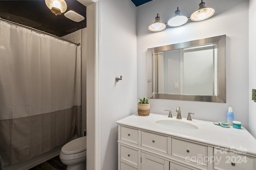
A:
{"label": "narrow strip of white wall at the far right edge", "polygon": [[249,4],[249,130],[256,138],[256,103],[252,101],[252,88],[256,89],[256,0]]}

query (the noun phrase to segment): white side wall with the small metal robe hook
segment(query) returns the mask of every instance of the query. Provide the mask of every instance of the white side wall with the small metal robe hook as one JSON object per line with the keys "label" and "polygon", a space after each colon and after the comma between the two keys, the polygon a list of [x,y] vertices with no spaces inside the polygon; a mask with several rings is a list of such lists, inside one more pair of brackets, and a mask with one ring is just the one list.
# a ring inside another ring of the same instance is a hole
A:
{"label": "white side wall with the small metal robe hook", "polygon": [[[115,121],[136,113],[136,7],[100,0],[101,169],[118,169]],[[123,80],[115,81],[116,76]]]}

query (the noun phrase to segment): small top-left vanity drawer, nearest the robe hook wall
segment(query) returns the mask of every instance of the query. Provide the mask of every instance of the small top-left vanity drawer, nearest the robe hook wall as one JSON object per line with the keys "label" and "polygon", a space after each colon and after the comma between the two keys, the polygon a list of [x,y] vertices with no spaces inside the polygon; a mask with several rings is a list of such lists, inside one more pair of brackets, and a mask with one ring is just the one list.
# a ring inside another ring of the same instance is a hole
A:
{"label": "small top-left vanity drawer, nearest the robe hook wall", "polygon": [[138,145],[138,129],[121,126],[121,140]]}

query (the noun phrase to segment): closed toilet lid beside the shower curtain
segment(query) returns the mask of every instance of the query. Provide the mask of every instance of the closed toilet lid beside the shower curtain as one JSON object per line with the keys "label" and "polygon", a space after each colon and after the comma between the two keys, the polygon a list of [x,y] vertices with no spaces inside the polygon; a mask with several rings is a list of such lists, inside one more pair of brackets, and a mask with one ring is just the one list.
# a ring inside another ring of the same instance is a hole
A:
{"label": "closed toilet lid beside the shower curtain", "polygon": [[61,149],[62,154],[75,154],[86,150],[86,136],[74,139]]}

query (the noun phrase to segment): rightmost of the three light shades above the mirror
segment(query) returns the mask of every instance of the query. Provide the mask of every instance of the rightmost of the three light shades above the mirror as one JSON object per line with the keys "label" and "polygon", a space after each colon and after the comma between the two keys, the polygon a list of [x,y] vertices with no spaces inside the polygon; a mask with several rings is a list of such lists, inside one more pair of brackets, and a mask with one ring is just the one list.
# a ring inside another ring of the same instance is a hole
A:
{"label": "rightmost of the three light shades above the mirror", "polygon": [[214,12],[213,8],[205,7],[205,3],[202,0],[199,4],[199,9],[190,16],[190,19],[193,21],[202,21],[210,18]]}

